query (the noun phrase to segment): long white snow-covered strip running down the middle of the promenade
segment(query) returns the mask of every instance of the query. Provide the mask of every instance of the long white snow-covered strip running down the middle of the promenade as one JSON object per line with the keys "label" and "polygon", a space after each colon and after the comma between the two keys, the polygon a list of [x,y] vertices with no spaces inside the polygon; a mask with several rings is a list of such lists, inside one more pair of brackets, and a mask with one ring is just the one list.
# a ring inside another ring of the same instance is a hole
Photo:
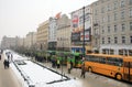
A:
{"label": "long white snow-covered strip running down the middle of the promenade", "polygon": [[13,63],[10,64],[11,68],[23,87],[82,87],[79,80],[65,76],[62,80],[62,75],[28,61],[28,57],[14,52],[11,53],[13,54]]}

